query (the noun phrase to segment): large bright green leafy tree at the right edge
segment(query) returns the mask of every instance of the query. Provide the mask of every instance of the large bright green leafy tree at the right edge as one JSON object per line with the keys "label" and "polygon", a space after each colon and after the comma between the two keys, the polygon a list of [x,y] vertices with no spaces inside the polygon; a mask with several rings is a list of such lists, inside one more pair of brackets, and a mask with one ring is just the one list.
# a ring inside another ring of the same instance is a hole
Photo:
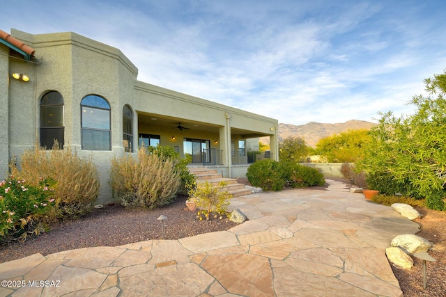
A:
{"label": "large bright green leafy tree at the right edge", "polygon": [[381,114],[358,165],[367,172],[369,186],[378,191],[426,198],[430,209],[445,210],[446,71],[424,83],[429,96],[415,96],[409,102],[417,107],[414,115]]}

